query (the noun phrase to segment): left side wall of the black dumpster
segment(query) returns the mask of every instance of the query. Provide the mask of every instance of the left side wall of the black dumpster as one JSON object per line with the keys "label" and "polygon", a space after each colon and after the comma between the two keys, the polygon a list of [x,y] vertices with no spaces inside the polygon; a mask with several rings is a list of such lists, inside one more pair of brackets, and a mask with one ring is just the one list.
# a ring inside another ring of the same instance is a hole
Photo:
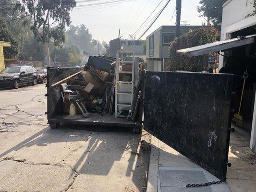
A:
{"label": "left side wall of the black dumpster", "polygon": [[81,71],[81,69],[73,68],[47,68],[47,119],[53,118],[59,115],[63,111],[63,101],[61,98],[59,86],[53,88],[50,87],[51,84],[57,83],[62,79]]}

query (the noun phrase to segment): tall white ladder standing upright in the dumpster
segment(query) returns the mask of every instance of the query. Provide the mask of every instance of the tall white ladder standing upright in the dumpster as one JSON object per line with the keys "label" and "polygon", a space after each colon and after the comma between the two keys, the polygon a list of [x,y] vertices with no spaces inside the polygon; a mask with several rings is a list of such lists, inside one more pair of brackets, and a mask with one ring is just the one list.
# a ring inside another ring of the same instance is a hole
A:
{"label": "tall white ladder standing upright in the dumpster", "polygon": [[[124,71],[124,65],[132,67],[131,70]],[[130,76],[130,80],[123,80],[125,75]],[[127,117],[131,109],[134,94],[134,52],[128,50],[117,51],[116,54],[116,84],[115,84],[115,116]],[[122,110],[127,110],[127,115],[119,114]]]}

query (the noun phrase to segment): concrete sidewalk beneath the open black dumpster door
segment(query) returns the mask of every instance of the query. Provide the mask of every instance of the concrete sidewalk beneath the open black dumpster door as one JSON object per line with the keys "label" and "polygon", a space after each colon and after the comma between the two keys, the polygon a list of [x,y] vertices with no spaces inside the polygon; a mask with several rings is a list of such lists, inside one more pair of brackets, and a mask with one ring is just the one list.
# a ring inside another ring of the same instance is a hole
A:
{"label": "concrete sidewalk beneath the open black dumpster door", "polygon": [[231,133],[227,182],[201,188],[187,184],[217,181],[170,146],[152,136],[146,192],[255,192],[256,155],[249,148],[250,132],[236,128]]}

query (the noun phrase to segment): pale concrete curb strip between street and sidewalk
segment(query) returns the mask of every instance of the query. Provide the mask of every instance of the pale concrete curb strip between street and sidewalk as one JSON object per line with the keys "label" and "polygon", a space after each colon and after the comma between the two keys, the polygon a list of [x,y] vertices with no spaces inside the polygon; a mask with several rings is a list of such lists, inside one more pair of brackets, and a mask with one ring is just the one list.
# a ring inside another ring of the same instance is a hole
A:
{"label": "pale concrete curb strip between street and sidewalk", "polygon": [[158,191],[158,139],[152,135],[146,192]]}

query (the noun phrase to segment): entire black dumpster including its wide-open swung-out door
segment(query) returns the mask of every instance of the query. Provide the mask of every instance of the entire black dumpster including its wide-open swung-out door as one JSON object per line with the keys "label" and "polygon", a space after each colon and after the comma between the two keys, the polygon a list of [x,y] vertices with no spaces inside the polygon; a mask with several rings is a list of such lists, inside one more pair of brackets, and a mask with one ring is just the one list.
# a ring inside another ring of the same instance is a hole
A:
{"label": "entire black dumpster including its wide-open swung-out door", "polygon": [[48,68],[48,122],[133,128],[141,126],[194,163],[225,180],[232,120],[233,75],[192,72],[142,73],[143,111],[132,122],[114,115],[63,114],[59,87],[54,84],[81,69]]}

